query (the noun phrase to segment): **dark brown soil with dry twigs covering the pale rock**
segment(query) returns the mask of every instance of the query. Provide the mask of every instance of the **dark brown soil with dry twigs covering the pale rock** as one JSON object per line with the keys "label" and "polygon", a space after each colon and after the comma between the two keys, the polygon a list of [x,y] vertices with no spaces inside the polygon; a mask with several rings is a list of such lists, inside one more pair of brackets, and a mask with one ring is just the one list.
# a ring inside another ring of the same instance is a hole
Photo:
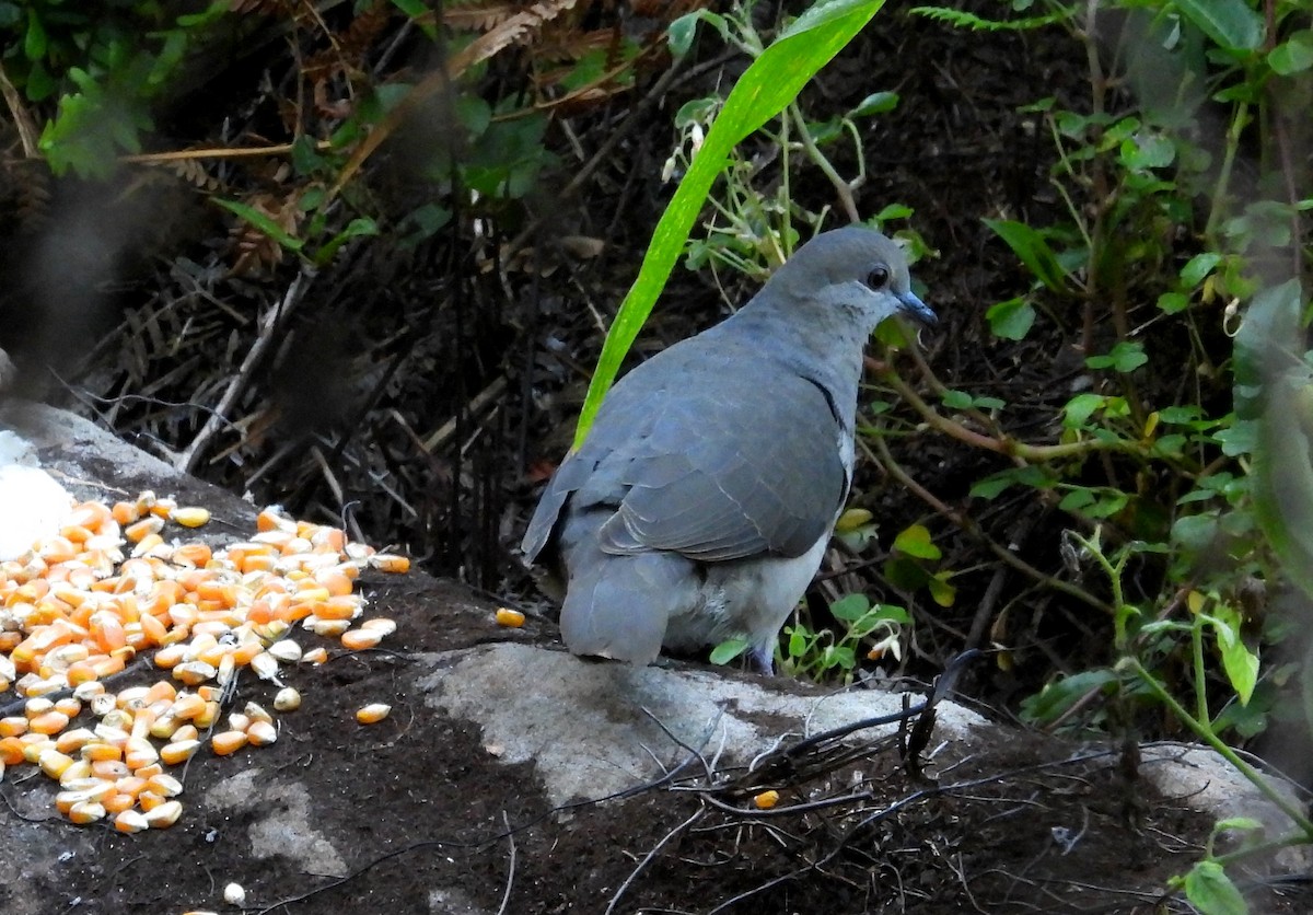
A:
{"label": "dark brown soil with dry twigs covering the pale rock", "polygon": [[[230,911],[221,897],[230,881],[257,912],[1188,911],[1165,881],[1197,857],[1209,819],[1182,798],[1128,785],[1106,746],[1010,730],[969,754],[931,747],[923,773],[903,767],[893,743],[800,767],[772,782],[781,801],[769,814],[725,786],[709,790],[700,773],[551,810],[532,765],[500,761],[477,727],[423,705],[408,660],[491,639],[551,643],[551,625],[508,634],[490,605],[421,574],[364,587],[400,624],[386,649],[293,671],[305,705],[281,717],[278,742],[200,754],[172,830],[64,827],[92,835],[95,851],[45,876],[47,911]],[[249,677],[235,701],[268,704],[269,693]],[[393,714],[360,727],[351,712],[373,701],[393,704]],[[247,809],[190,801],[243,772],[255,788],[312,785],[312,827],[349,849],[348,876],[251,856],[251,834],[270,813],[289,828],[305,815],[294,793],[274,790]],[[42,817],[22,799],[32,788],[7,778],[11,811]],[[789,810],[804,802],[809,811]],[[1271,890],[1255,911],[1308,904]]]}

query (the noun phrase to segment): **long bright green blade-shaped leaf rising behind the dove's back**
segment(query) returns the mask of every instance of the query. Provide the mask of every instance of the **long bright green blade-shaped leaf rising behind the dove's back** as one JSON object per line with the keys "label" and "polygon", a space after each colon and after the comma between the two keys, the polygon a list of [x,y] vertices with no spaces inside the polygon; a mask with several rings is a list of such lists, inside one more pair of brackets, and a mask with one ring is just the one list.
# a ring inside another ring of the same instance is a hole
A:
{"label": "long bright green blade-shaped leaf rising behind the dove's back", "polygon": [[651,312],[653,305],[679,260],[688,232],[702,209],[712,184],[729,163],[737,143],[773,118],[793,101],[821,67],[830,62],[884,0],[831,0],[818,3],[794,20],[776,41],[739,76],[721,114],[706,131],[701,148],[653,231],[638,278],[634,280],[616,322],[607,333],[597,369],[575,431],[575,448],[583,444],[601,399],[620,364]]}

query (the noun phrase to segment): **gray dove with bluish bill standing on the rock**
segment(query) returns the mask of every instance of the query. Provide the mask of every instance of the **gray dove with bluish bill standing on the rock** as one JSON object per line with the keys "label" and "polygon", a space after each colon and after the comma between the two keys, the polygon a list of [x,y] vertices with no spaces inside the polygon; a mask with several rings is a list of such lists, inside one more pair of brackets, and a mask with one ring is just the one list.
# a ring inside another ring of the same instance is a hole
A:
{"label": "gray dove with bluish bill standing on the rock", "polygon": [[773,671],[852,482],[863,347],[897,314],[935,320],[902,249],[838,228],[616,383],[524,536],[529,562],[554,550],[570,651],[650,664],[739,637]]}

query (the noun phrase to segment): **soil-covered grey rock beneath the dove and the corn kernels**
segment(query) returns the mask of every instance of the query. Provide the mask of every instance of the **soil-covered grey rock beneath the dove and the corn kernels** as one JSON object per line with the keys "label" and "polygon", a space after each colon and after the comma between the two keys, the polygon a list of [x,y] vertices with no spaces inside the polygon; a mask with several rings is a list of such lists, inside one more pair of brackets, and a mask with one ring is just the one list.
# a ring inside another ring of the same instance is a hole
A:
{"label": "soil-covered grey rock beneath the dove and the corn kernels", "polygon": [[[253,507],[68,414],[8,404],[0,428],[79,498],[176,492],[211,509],[210,537],[252,530]],[[184,811],[171,830],[71,826],[54,781],[11,767],[0,911],[232,911],[230,882],[261,912],[1060,911],[1152,902],[1220,813],[1280,822],[1211,752],[1145,747],[1152,778],[1127,786],[1102,746],[951,702],[936,709],[923,769],[899,759],[895,723],[789,752],[897,715],[905,697],[591,663],[561,651],[549,622],[500,629],[494,608],[419,572],[361,587],[397,634],[290,668],[302,709],[280,715],[272,746],[202,750],[179,769]],[[246,676],[234,702],[272,692]],[[356,723],[373,701],[391,715]],[[1211,784],[1226,789],[1200,790]],[[754,802],[767,789],[773,807]],[[1145,832],[1121,826],[1132,806]],[[1091,880],[1107,872],[1121,880]]]}

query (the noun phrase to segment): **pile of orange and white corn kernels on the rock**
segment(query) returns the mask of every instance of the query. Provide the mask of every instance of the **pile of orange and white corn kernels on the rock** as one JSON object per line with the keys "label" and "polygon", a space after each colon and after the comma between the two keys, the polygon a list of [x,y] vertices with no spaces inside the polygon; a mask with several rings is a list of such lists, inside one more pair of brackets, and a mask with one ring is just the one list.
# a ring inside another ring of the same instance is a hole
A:
{"label": "pile of orange and white corn kernels on the rock", "polygon": [[[206,739],[217,755],[273,743],[269,712],[247,702],[223,721],[222,705],[249,668],[281,687],[274,710],[299,706],[280,671],[328,654],[302,651],[297,625],[349,650],[397,629],[391,620],[360,621],[365,599],[353,584],[366,566],[407,571],[404,557],[277,507],[260,512],[249,540],[226,549],[164,540],[168,522],[207,521],[206,509],[152,492],[87,501],[56,536],[0,563],[0,777],[5,767],[38,767],[59,781],[55,806],[74,823],[167,828],[183,811],[183,782],[168,769]],[[112,689],[138,659],[168,673]],[[383,705],[366,709],[357,713],[362,723],[387,714]]]}

